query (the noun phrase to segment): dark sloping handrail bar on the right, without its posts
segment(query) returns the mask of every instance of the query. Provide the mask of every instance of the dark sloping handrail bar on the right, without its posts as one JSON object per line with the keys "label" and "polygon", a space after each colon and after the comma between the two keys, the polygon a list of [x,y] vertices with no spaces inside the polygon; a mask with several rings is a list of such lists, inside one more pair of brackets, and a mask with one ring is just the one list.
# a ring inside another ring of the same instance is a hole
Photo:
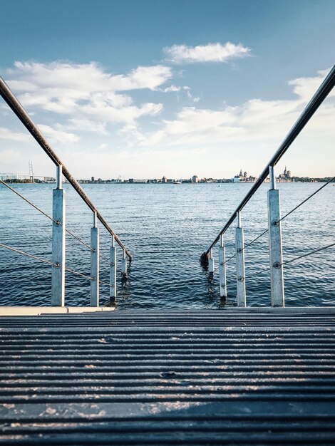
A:
{"label": "dark sloping handrail bar on the right, without its posts", "polygon": [[242,199],[242,202],[239,204],[239,206],[235,209],[230,219],[227,221],[225,226],[221,229],[217,237],[215,238],[214,242],[210,245],[210,247],[207,249],[207,251],[202,254],[202,256],[207,256],[210,254],[210,249],[217,244],[220,240],[220,236],[222,234],[225,234],[227,229],[230,227],[232,222],[234,222],[234,219],[237,216],[237,213],[240,212],[244,206],[249,202],[249,199],[254,195],[254,193],[259,189],[259,187],[262,185],[264,180],[266,180],[267,176],[269,175],[269,167],[274,167],[277,165],[277,162],[282,158],[284,153],[287,151],[287,149],[292,145],[292,142],[297,138],[301,130],[305,127],[305,125],[309,122],[310,118],[314,115],[316,110],[319,108],[321,103],[323,103],[324,99],[329,95],[332,88],[335,85],[335,65],[333,68],[331,68],[331,71],[329,71],[328,75],[324,79],[324,81],[321,83],[320,87],[314,94],[313,98],[309,101],[309,103],[306,105],[306,108],[299,116],[297,122],[294,124],[292,129],[287,134],[287,137],[284,139],[282,144],[279,146],[277,152],[274,153],[273,157],[269,162],[267,163],[266,167],[264,167],[263,172],[259,177],[257,178],[254,185],[251,187],[251,189],[247,192],[247,195],[245,195],[244,199]]}

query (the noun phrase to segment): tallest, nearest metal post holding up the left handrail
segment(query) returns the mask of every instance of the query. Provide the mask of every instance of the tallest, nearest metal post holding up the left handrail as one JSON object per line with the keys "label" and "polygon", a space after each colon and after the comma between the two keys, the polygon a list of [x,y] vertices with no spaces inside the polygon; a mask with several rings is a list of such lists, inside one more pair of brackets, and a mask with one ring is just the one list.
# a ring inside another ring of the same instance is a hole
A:
{"label": "tallest, nearest metal post holding up the left handrail", "polygon": [[51,305],[65,305],[65,191],[62,189],[62,167],[57,166],[56,189],[52,195],[52,266]]}

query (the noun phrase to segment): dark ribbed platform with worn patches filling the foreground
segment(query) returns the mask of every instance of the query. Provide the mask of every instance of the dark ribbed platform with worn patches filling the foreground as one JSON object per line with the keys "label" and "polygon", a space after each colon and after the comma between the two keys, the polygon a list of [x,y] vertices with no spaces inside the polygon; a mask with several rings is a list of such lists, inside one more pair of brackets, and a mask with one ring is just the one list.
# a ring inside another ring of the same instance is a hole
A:
{"label": "dark ribbed platform with worn patches filling the foreground", "polygon": [[6,445],[335,444],[334,308],[0,318]]}

